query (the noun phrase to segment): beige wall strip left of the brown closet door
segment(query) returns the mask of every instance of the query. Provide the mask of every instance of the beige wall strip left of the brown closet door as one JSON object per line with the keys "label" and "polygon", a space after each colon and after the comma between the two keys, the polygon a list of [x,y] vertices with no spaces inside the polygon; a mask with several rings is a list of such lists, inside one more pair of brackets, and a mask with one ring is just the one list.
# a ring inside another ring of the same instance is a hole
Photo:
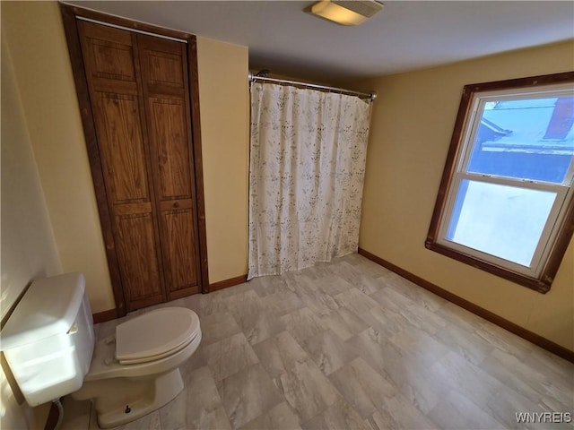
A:
{"label": "beige wall strip left of the brown closet door", "polygon": [[88,156],[55,2],[2,2],[30,142],[63,271],[82,271],[93,312],[114,307]]}

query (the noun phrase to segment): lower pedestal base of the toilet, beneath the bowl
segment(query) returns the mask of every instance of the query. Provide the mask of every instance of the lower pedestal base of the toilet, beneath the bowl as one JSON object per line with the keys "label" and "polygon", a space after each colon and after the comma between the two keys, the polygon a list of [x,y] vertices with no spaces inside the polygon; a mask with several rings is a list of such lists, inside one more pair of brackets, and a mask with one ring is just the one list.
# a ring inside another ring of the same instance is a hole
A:
{"label": "lower pedestal base of the toilet, beneath the bowl", "polygon": [[[105,395],[91,398],[101,428],[121,426],[161,408],[183,390],[183,379],[175,368],[150,379],[117,378],[108,381],[107,388]],[[78,398],[78,393],[74,394]]]}

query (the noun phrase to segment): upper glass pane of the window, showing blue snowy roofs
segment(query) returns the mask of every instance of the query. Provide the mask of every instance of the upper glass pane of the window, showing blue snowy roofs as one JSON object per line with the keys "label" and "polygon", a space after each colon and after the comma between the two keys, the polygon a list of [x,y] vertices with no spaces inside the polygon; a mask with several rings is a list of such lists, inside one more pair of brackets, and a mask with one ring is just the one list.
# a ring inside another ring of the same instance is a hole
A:
{"label": "upper glass pane of the window, showing blue snowy roofs", "polygon": [[574,97],[483,103],[466,171],[562,184],[574,154]]}

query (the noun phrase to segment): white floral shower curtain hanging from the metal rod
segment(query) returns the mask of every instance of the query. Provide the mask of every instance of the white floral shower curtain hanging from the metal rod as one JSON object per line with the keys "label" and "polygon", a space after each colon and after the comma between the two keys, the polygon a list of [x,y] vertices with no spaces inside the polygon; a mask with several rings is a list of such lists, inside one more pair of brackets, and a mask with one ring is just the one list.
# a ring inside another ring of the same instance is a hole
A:
{"label": "white floral shower curtain hanging from the metal rod", "polygon": [[370,103],[251,86],[248,279],[357,251]]}

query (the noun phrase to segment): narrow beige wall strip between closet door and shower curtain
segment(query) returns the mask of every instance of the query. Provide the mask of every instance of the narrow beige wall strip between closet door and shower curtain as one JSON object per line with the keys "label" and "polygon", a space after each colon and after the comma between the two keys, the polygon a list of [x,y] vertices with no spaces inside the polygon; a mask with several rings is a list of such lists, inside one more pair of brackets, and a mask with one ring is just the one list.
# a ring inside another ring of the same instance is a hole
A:
{"label": "narrow beige wall strip between closet door and shower curtain", "polygon": [[209,280],[248,271],[248,48],[197,38]]}

